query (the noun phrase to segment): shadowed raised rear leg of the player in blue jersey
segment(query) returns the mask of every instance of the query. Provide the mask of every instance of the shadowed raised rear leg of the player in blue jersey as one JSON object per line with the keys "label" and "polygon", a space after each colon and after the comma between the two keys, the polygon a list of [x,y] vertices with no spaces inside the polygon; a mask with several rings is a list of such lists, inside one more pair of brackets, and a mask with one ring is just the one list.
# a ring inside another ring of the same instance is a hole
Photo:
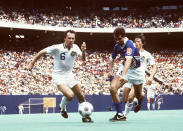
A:
{"label": "shadowed raised rear leg of the player in blue jersey", "polygon": [[134,86],[134,92],[135,92],[135,97],[138,100],[138,105],[135,106],[134,112],[138,112],[141,108],[142,105],[142,100],[144,96],[142,95],[142,86],[143,84],[138,84],[138,85],[133,85]]}

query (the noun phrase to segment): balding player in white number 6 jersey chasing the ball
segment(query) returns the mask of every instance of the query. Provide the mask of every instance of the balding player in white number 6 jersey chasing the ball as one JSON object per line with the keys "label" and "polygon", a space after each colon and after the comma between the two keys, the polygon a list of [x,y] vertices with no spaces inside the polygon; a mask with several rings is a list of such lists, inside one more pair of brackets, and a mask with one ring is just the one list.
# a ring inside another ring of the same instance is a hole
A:
{"label": "balding player in white number 6 jersey chasing the ball", "polygon": [[[63,97],[60,103],[61,115],[64,118],[68,118],[66,112],[66,104],[74,98],[76,95],[79,103],[85,101],[81,85],[75,80],[72,73],[74,62],[77,57],[85,60],[86,43],[83,43],[80,48],[74,44],[75,31],[67,30],[64,34],[64,43],[53,45],[41,50],[29,64],[28,69],[31,70],[35,62],[43,55],[54,55],[54,70],[53,70],[53,82],[57,85],[59,91],[63,93]],[[93,122],[89,116],[82,118],[83,122]]]}

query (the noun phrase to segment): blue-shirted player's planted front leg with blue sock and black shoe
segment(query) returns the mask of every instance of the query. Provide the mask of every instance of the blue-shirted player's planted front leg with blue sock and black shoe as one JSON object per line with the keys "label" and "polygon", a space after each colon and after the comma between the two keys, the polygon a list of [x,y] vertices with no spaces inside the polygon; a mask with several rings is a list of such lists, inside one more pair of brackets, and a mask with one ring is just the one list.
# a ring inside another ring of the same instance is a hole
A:
{"label": "blue-shirted player's planted front leg with blue sock and black shoe", "polygon": [[124,117],[122,114],[122,103],[118,95],[118,89],[122,86],[119,79],[120,79],[120,76],[115,76],[115,78],[111,82],[110,89],[109,89],[116,112],[117,112],[116,115],[110,119],[110,121],[112,122],[126,120],[126,117]]}

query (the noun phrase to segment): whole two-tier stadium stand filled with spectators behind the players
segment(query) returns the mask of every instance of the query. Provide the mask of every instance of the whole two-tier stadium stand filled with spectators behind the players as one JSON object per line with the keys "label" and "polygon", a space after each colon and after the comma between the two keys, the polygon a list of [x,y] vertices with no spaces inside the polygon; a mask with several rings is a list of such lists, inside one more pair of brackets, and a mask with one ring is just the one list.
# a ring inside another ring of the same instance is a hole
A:
{"label": "whole two-tier stadium stand filled with spectators behind the players", "polygon": [[[106,74],[113,44],[111,32],[117,26],[127,28],[130,38],[145,32],[147,49],[158,66],[156,76],[161,82],[153,83],[157,92],[183,94],[183,2],[142,1],[0,1],[0,94],[60,94],[51,82],[51,57],[38,61],[33,74],[26,67],[37,50],[62,42],[63,31],[70,28],[81,30],[76,43],[87,42],[87,61],[78,60],[74,69],[85,94],[109,94]],[[117,60],[115,67],[119,64]]]}

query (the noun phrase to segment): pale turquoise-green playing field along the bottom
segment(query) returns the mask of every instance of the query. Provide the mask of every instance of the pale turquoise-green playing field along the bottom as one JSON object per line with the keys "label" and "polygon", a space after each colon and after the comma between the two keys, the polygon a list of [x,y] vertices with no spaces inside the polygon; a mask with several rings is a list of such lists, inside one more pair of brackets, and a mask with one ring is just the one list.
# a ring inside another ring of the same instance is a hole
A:
{"label": "pale turquoise-green playing field along the bottom", "polygon": [[127,121],[109,122],[115,112],[94,112],[94,123],[82,123],[78,113],[0,115],[0,131],[183,131],[183,110],[131,112]]}

